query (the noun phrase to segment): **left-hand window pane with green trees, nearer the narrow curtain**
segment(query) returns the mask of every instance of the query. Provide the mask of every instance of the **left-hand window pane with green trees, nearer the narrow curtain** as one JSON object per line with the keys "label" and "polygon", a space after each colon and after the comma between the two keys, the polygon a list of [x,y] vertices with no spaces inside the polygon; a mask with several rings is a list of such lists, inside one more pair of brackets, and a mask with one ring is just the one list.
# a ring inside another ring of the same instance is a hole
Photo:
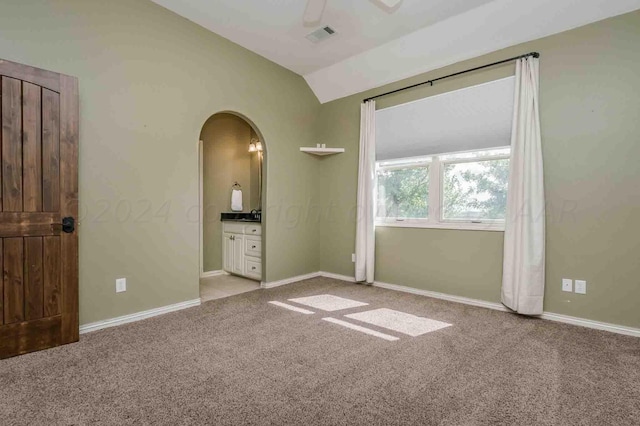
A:
{"label": "left-hand window pane with green trees, nearer the narrow curtain", "polygon": [[378,170],[377,218],[426,219],[428,199],[428,166]]}

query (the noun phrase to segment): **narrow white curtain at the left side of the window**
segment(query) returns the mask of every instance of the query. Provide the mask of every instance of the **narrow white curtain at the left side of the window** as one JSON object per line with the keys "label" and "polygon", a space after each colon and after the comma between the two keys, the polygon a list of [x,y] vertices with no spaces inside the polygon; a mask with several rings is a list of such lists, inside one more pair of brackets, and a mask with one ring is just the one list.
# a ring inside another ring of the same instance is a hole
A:
{"label": "narrow white curtain at the left side of the window", "polygon": [[356,217],[356,281],[373,283],[375,262],[376,102],[360,106],[360,162]]}

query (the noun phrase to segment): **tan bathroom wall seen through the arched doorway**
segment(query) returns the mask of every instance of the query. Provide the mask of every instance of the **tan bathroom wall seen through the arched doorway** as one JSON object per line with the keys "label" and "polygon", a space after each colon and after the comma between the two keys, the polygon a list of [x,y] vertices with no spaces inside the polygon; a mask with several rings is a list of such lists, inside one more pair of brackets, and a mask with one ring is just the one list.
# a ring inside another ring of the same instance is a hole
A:
{"label": "tan bathroom wall seen through the arched doorway", "polygon": [[[231,211],[231,187],[242,187],[243,212],[258,208],[258,154],[249,152],[255,132],[242,118],[216,114],[202,128],[203,215],[202,242],[204,271],[222,269],[222,222],[220,213]],[[254,188],[255,186],[255,188]]]}

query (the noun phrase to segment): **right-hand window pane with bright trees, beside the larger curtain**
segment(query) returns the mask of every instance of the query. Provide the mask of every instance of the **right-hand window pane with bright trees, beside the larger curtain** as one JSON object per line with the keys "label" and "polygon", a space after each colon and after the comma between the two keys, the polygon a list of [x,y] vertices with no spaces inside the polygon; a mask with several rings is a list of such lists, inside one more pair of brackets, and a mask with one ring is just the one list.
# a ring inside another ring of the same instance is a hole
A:
{"label": "right-hand window pane with bright trees, beside the larger curtain", "polygon": [[444,220],[504,220],[509,160],[444,165]]}

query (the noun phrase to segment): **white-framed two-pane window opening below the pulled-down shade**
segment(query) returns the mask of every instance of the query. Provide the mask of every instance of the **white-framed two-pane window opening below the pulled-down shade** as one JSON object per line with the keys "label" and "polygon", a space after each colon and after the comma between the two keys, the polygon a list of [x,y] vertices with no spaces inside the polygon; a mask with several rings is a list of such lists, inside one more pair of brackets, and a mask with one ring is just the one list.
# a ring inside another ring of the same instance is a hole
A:
{"label": "white-framed two-pane window opening below the pulled-down shade", "polygon": [[379,161],[376,222],[503,230],[509,148]]}

